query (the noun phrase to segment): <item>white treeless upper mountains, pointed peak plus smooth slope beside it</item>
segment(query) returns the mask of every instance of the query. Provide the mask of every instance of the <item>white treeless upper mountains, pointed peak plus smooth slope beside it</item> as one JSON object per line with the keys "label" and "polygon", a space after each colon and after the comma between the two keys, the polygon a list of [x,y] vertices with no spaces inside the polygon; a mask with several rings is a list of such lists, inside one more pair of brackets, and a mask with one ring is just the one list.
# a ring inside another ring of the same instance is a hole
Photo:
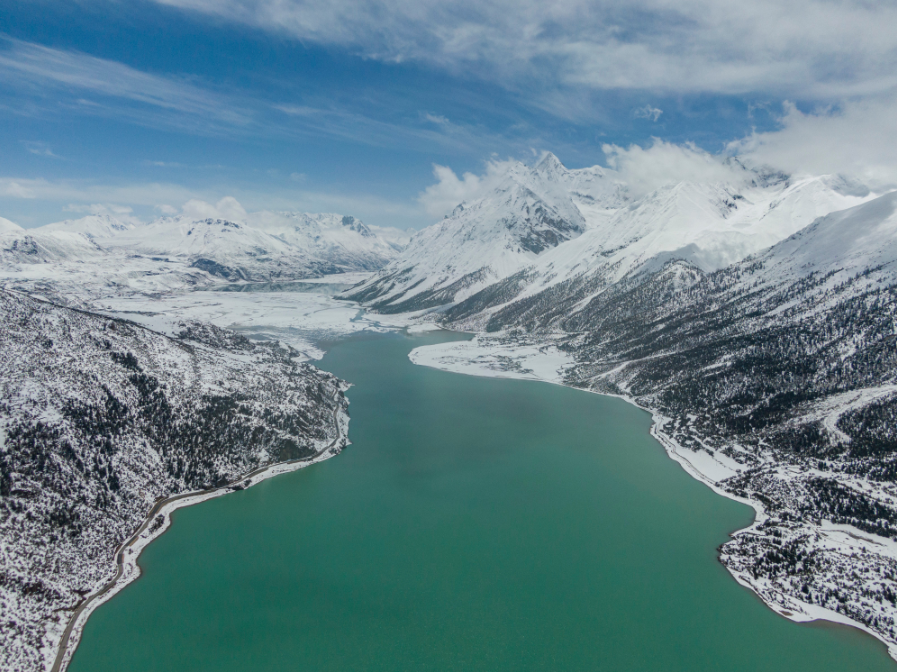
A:
{"label": "white treeless upper mountains, pointed peak plus smooth slope beside it", "polygon": [[[842,177],[770,180],[734,166],[729,183],[681,182],[632,199],[597,166],[567,170],[552,154],[532,168],[514,164],[491,193],[421,231],[348,296],[405,312],[481,290],[519,298],[585,275],[602,287],[670,259],[711,271],[874,197]],[[506,278],[513,289],[496,293]]]}

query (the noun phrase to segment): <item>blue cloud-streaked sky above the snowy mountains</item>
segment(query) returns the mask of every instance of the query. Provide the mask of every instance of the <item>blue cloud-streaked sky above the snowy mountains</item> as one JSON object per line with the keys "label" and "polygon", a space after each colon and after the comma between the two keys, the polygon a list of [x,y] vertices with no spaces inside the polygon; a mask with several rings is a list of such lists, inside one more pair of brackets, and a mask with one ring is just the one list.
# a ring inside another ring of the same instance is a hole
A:
{"label": "blue cloud-streaked sky above the snowy mountains", "polygon": [[872,0],[5,0],[0,216],[236,199],[420,228],[544,151],[891,185],[894,26]]}

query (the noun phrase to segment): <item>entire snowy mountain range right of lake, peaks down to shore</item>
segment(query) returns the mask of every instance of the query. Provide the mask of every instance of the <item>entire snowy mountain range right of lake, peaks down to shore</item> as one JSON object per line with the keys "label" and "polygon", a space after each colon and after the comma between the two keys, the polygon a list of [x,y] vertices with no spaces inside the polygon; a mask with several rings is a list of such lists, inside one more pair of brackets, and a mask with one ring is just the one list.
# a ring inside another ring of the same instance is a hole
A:
{"label": "entire snowy mountain range right of lake, peaks down to shore", "polygon": [[640,195],[588,171],[589,199],[553,157],[514,166],[346,296],[473,331],[469,357],[563,351],[755,507],[720,550],[741,583],[895,651],[897,191],[729,165]]}

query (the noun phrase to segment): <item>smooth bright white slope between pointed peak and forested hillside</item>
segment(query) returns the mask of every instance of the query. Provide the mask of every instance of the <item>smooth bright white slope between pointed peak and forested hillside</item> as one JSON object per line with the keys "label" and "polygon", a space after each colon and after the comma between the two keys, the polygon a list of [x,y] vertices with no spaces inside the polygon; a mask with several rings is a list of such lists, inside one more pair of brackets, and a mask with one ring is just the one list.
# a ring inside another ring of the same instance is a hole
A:
{"label": "smooth bright white slope between pointed peak and forested hillside", "polygon": [[[833,176],[757,184],[681,182],[610,211],[576,240],[559,245],[490,288],[488,298],[462,302],[455,319],[482,312],[485,319],[504,304],[535,297],[563,283],[591,295],[671,260],[710,272],[781,241],[820,216],[875,197],[860,185]],[[562,292],[562,290],[558,290]],[[569,292],[568,292],[569,295]],[[580,297],[586,300],[588,295]]]}

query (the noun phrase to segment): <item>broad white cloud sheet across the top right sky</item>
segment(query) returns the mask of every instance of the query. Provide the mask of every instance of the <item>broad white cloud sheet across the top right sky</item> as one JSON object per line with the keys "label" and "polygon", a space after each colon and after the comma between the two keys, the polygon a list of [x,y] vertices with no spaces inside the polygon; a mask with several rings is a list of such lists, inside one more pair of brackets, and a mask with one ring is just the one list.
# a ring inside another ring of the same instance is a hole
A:
{"label": "broad white cloud sheet across the top right sky", "polygon": [[897,5],[867,0],[157,0],[383,61],[510,83],[869,95],[897,83]]}

